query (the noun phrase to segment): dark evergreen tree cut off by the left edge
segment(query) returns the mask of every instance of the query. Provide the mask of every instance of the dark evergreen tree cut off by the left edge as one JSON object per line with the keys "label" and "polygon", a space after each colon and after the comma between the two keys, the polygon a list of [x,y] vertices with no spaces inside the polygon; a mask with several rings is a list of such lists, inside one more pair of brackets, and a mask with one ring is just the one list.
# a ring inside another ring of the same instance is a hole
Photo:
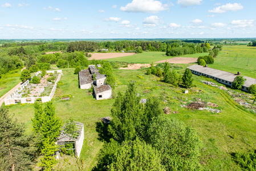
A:
{"label": "dark evergreen tree cut off by the left edge", "polygon": [[0,170],[31,170],[36,137],[25,136],[22,124],[0,108]]}

